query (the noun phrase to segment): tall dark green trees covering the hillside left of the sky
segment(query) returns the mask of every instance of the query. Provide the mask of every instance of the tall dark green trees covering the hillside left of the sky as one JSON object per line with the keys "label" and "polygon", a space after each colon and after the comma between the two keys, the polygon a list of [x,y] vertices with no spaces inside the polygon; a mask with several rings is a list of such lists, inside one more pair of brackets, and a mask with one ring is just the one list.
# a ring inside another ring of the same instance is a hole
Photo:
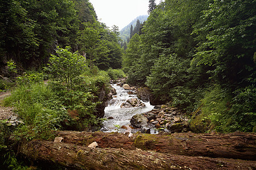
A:
{"label": "tall dark green trees covering the hillside left of the sky", "polygon": [[4,0],[0,10],[1,67],[9,59],[19,70],[41,67],[56,46],[79,50],[91,65],[96,62],[104,69],[121,67],[118,36],[97,21],[88,0]]}

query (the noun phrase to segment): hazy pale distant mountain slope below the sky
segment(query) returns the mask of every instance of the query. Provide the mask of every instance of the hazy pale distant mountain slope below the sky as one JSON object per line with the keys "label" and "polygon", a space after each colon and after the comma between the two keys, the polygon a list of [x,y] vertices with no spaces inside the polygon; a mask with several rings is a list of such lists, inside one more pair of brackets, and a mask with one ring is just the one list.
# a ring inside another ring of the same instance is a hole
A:
{"label": "hazy pale distant mountain slope below the sky", "polygon": [[143,23],[148,18],[148,15],[141,15],[135,18],[130,24],[128,24],[125,28],[121,29],[119,37],[121,37],[122,40],[126,41],[128,37],[130,37],[130,28],[131,25],[135,27],[137,20],[139,22]]}

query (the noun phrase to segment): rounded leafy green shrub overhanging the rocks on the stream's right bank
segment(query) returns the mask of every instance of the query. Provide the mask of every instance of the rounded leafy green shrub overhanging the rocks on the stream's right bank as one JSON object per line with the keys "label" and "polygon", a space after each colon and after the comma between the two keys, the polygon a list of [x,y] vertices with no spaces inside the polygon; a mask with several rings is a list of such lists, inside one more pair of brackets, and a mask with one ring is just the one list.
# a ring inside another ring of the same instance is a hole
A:
{"label": "rounded leafy green shrub overhanging the rocks on the stream's right bank", "polygon": [[185,111],[195,111],[200,105],[202,89],[191,88],[188,76],[188,60],[162,55],[151,68],[151,74],[147,76],[146,85],[157,97],[164,97],[171,101],[172,105]]}

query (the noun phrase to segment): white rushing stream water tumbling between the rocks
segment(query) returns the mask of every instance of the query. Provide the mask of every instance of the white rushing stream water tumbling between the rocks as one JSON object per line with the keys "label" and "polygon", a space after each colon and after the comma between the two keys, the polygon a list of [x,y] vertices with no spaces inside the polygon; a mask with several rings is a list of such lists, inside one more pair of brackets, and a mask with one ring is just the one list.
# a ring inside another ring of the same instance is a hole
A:
{"label": "white rushing stream water tumbling between the rocks", "polygon": [[[125,90],[121,86],[117,86],[117,84],[112,84],[112,87],[117,91],[117,95],[113,96],[113,99],[109,101],[108,107],[105,108],[105,118],[112,118],[105,121],[104,127],[101,129],[105,132],[116,131],[116,126],[119,127],[130,125],[131,117],[133,117],[137,113],[146,113],[151,111],[154,106],[150,105],[150,103],[144,103],[146,107],[142,108],[121,108],[121,104],[126,100],[131,98],[137,98],[137,95],[129,95],[127,92],[131,90]],[[121,129],[120,132],[125,131],[125,129]]]}

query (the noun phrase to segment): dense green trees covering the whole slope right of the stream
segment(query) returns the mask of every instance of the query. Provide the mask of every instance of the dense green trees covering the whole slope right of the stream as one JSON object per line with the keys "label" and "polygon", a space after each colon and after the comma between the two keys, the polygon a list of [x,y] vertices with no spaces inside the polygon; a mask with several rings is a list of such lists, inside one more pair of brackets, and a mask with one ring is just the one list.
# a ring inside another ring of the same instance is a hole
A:
{"label": "dense green trees covering the whole slope right of the stream", "polygon": [[195,131],[253,131],[255,6],[241,0],[160,3],[127,45],[127,81],[201,113],[192,121]]}

